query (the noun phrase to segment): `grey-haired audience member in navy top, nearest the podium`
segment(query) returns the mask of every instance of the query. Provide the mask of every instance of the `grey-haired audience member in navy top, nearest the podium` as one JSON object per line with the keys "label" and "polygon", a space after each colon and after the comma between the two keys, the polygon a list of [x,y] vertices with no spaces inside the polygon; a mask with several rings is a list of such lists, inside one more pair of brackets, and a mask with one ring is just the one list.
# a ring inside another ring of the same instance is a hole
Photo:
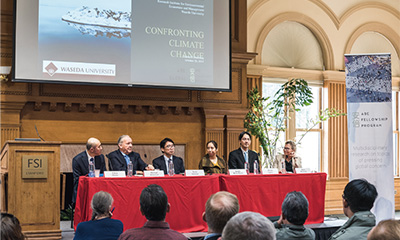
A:
{"label": "grey-haired audience member in navy top, nearest the podium", "polygon": [[[97,192],[90,204],[92,220],[76,227],[74,240],[116,240],[124,230],[120,220],[111,219],[113,198],[108,192]],[[122,209],[121,209],[122,210]]]}

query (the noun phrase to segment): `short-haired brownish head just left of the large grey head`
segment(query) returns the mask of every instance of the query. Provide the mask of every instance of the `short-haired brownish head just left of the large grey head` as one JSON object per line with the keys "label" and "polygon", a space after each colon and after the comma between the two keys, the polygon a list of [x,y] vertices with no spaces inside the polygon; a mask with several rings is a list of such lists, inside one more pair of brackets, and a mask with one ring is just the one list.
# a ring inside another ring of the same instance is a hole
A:
{"label": "short-haired brownish head just left of the large grey head", "polygon": [[206,203],[203,219],[207,222],[208,232],[222,233],[226,223],[239,212],[236,195],[221,191],[210,196]]}

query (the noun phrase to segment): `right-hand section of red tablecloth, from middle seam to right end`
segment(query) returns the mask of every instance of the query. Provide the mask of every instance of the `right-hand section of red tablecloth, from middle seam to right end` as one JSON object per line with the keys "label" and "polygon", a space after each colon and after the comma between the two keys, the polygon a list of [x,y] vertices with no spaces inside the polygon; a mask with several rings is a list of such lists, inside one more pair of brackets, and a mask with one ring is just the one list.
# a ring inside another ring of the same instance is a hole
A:
{"label": "right-hand section of red tablecloth, from middle seam to right end", "polygon": [[240,211],[280,216],[288,192],[300,191],[308,199],[307,224],[324,222],[326,173],[220,176],[221,190],[235,194]]}

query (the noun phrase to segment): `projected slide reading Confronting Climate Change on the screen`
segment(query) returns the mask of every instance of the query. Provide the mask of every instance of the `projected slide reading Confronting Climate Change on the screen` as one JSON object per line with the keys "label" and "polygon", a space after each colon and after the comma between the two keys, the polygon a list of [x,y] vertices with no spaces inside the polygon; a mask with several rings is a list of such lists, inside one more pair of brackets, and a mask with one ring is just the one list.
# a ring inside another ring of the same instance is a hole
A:
{"label": "projected slide reading Confronting Climate Change on the screen", "polygon": [[16,81],[230,90],[229,0],[19,0],[16,16]]}

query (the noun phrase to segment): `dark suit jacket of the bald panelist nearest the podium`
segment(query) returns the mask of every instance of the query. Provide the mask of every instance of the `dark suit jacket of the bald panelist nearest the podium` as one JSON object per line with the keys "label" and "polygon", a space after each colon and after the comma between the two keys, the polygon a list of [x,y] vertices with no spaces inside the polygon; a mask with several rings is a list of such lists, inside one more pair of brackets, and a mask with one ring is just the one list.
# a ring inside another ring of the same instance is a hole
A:
{"label": "dark suit jacket of the bald panelist nearest the podium", "polygon": [[[103,154],[94,157],[94,168],[100,169],[100,173],[106,171],[106,161],[104,160]],[[75,203],[79,177],[89,173],[89,159],[86,151],[79,153],[72,159],[72,171],[74,177],[74,195],[72,196],[72,202]]]}

